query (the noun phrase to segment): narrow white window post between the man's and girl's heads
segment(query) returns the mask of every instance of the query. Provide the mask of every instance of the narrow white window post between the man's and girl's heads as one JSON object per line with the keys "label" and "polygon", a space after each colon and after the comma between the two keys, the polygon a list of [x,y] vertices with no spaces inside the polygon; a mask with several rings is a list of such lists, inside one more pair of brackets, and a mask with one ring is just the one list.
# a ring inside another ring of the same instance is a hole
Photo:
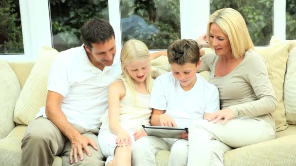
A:
{"label": "narrow white window post between the man's and girl's heads", "polygon": [[115,33],[117,54],[122,48],[121,22],[120,22],[120,0],[108,0],[109,22]]}

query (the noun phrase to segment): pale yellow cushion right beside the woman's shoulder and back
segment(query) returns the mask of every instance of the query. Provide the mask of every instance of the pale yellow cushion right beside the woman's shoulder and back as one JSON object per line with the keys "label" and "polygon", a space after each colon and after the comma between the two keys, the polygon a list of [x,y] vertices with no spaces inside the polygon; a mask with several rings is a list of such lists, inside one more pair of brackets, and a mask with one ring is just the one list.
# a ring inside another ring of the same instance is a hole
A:
{"label": "pale yellow cushion right beside the woman's shoulder and back", "polygon": [[290,42],[271,43],[264,48],[255,48],[255,51],[265,59],[269,79],[275,90],[277,98],[277,109],[272,113],[276,122],[276,130],[282,131],[288,127],[283,101],[283,84],[288,59]]}

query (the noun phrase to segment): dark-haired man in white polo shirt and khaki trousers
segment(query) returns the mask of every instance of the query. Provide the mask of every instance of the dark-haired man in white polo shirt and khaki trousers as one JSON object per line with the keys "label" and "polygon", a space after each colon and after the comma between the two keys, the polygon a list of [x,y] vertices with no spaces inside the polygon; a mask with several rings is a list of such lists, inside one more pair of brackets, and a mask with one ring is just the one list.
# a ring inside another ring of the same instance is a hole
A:
{"label": "dark-haired man in white polo shirt and khaki trousers", "polygon": [[121,74],[115,36],[103,19],[81,28],[84,44],[60,52],[48,78],[46,106],[26,129],[21,166],[104,166],[98,148],[100,116],[108,107],[109,84]]}

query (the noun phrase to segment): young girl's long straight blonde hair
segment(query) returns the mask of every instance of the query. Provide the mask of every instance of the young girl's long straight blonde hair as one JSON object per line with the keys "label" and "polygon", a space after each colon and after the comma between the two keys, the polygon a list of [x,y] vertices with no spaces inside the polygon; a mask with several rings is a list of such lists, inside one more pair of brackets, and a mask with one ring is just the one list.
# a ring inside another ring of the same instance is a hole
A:
{"label": "young girl's long straight blonde hair", "polygon": [[126,81],[132,98],[135,101],[135,104],[139,106],[139,103],[136,98],[136,88],[133,83],[133,79],[129,75],[127,66],[132,62],[141,62],[147,60],[149,61],[149,73],[147,78],[145,79],[145,83],[148,93],[150,94],[152,89],[152,71],[149,50],[146,44],[142,41],[136,39],[129,39],[121,49],[120,59],[123,73],[122,78],[124,79],[123,81]]}

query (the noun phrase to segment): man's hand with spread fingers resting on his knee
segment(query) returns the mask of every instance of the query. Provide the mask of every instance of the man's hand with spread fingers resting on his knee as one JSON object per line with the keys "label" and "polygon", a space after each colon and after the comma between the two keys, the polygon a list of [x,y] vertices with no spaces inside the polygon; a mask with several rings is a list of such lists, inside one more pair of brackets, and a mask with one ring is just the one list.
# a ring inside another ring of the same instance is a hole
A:
{"label": "man's hand with spread fingers resting on his knee", "polygon": [[71,138],[71,151],[70,151],[71,164],[73,164],[73,157],[74,157],[75,163],[78,163],[78,156],[80,157],[80,161],[84,159],[83,150],[85,150],[88,156],[92,155],[88,145],[91,145],[93,149],[98,150],[96,143],[94,143],[90,138],[87,138],[81,134]]}

